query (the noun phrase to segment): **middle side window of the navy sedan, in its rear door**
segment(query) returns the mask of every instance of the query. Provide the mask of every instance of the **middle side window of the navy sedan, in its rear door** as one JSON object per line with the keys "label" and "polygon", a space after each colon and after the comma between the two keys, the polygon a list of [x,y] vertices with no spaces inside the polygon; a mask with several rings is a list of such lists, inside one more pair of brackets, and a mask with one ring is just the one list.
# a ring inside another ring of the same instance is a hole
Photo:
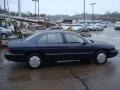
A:
{"label": "middle side window of the navy sedan, in its rear door", "polygon": [[60,33],[49,33],[47,37],[48,44],[63,43],[63,39]]}

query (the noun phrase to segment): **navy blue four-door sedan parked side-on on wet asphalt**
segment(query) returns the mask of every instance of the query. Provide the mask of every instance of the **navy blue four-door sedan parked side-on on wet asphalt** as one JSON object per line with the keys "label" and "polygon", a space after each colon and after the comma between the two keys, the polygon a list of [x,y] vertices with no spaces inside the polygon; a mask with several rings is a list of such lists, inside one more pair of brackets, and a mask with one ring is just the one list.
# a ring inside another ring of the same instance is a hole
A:
{"label": "navy blue four-door sedan parked side-on on wet asphalt", "polygon": [[11,41],[4,55],[10,61],[27,62],[36,69],[45,62],[94,60],[104,64],[117,54],[115,46],[106,42],[87,40],[74,32],[46,30]]}

